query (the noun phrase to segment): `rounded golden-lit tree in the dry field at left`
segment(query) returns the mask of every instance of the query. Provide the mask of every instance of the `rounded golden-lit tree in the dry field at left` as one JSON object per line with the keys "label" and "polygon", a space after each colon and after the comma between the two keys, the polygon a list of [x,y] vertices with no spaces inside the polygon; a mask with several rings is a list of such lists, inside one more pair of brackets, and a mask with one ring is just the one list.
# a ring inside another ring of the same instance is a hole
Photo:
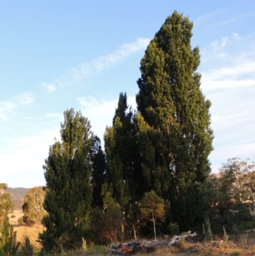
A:
{"label": "rounded golden-lit tree in the dry field at left", "polygon": [[45,199],[45,190],[42,186],[36,186],[28,190],[24,197],[24,204],[22,210],[24,213],[24,223],[27,225],[41,222],[43,216],[47,215],[43,207]]}

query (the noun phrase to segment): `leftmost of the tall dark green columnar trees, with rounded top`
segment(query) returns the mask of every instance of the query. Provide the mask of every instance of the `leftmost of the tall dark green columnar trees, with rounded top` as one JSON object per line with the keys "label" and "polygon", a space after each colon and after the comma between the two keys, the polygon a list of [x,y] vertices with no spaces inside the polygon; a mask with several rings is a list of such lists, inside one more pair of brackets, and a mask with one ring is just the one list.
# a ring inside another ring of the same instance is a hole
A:
{"label": "leftmost of the tall dark green columnar trees, with rounded top", "polygon": [[[92,200],[91,147],[94,142],[91,124],[81,112],[64,112],[61,142],[50,146],[43,169],[46,195],[43,218],[46,231],[40,234],[48,250],[80,246],[88,229],[89,207]],[[46,242],[46,243],[45,243]]]}

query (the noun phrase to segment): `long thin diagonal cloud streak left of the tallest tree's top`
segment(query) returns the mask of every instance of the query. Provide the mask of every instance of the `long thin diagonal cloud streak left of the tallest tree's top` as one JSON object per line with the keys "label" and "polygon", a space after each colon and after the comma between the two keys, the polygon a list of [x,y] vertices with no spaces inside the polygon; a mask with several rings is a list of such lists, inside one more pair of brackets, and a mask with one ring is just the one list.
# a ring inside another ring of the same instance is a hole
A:
{"label": "long thin diagonal cloud streak left of the tallest tree's top", "polygon": [[88,63],[78,64],[71,68],[66,74],[54,79],[54,82],[50,84],[42,82],[41,85],[45,87],[48,92],[53,92],[57,87],[69,86],[75,82],[80,82],[80,80],[84,80],[93,74],[110,68],[113,64],[131,56],[131,54],[145,49],[149,42],[150,39],[148,38],[138,38],[132,43],[124,43],[124,45],[121,45],[119,49],[115,50],[112,54],[98,57]]}

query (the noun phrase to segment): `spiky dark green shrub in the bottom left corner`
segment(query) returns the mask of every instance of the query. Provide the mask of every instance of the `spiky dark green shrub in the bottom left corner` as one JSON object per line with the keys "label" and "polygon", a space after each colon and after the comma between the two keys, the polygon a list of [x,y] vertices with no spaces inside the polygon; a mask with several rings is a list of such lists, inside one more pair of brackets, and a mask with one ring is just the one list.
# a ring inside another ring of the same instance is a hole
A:
{"label": "spiky dark green shrub in the bottom left corner", "polygon": [[4,222],[0,225],[0,255],[16,255],[20,243],[16,243],[17,232],[13,231],[8,216],[4,217]]}

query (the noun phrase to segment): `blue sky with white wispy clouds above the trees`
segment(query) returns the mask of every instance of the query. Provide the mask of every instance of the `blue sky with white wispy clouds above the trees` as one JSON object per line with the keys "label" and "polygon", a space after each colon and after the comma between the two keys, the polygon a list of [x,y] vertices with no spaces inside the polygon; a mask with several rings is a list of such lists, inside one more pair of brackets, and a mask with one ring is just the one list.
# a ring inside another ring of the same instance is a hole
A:
{"label": "blue sky with white wispy clouds above the trees", "polygon": [[164,20],[193,21],[201,89],[212,102],[212,172],[255,160],[255,1],[0,1],[0,183],[45,185],[63,112],[81,110],[103,142],[121,92],[136,109],[140,60]]}

